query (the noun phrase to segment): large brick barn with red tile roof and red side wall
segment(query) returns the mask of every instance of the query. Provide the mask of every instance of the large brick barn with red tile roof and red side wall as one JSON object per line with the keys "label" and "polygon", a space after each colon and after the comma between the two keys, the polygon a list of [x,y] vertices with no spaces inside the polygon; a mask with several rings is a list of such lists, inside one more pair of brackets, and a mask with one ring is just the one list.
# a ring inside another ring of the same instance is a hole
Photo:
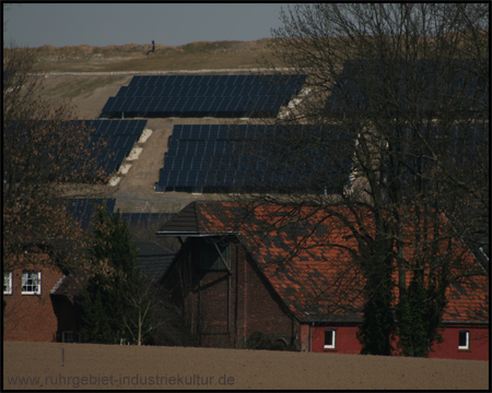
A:
{"label": "large brick barn with red tile roof and red side wall", "polygon": [[[347,252],[354,239],[335,219],[307,230],[283,216],[276,206],[190,203],[157,233],[183,243],[161,284],[201,346],[242,348],[259,332],[301,352],[359,354],[361,278]],[[489,359],[488,287],[487,275],[449,287],[432,357]]]}

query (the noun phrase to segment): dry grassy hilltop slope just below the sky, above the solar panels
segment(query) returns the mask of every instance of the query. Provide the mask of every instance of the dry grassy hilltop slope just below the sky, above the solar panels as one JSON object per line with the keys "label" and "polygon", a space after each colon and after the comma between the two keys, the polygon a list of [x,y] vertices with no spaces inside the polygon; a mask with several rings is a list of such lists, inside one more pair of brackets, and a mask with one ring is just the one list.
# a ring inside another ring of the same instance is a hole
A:
{"label": "dry grassy hilltop slope just below the sky, above the solar panels", "polygon": [[271,39],[255,41],[196,41],[178,47],[124,45],[90,47],[87,45],[35,49],[45,72],[125,72],[184,71],[218,69],[254,69],[274,60],[268,45]]}

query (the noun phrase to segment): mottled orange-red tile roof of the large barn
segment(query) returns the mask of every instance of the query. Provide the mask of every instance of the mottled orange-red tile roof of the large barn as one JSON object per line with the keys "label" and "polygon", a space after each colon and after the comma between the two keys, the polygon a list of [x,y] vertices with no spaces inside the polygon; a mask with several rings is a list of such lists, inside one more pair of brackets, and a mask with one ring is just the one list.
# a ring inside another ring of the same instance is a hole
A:
{"label": "mottled orange-red tile roof of the large barn", "polygon": [[[191,215],[190,210],[196,212],[197,222],[190,227],[197,234],[236,233],[274,290],[300,320],[361,320],[363,278],[360,267],[352,262],[358,247],[341,219],[309,209],[301,209],[293,217],[284,213],[284,207],[260,206],[250,211],[225,202],[194,202],[185,210],[187,217]],[[352,217],[344,207],[336,213],[344,218]],[[178,217],[179,214],[173,219]],[[358,225],[355,219],[350,223]],[[162,233],[169,224],[176,226],[177,222],[165,224]],[[462,265],[476,265],[471,252],[461,243],[457,249],[465,261]],[[407,247],[405,252],[411,257],[412,247]],[[408,273],[407,283],[410,278]],[[448,305],[443,319],[488,321],[488,288],[485,275],[453,283],[447,290]],[[398,295],[397,288],[395,290]]]}

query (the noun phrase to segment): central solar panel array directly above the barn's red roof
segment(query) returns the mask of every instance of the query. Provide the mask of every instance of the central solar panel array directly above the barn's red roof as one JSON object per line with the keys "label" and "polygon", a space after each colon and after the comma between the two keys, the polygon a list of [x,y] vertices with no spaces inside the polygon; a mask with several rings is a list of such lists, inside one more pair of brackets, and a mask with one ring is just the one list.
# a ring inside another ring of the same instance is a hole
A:
{"label": "central solar panel array directly above the barn's red roof", "polygon": [[[314,130],[301,127],[298,132],[313,134]],[[326,145],[319,144],[307,155],[297,156],[295,164],[288,163],[285,155],[272,155],[271,145],[261,144],[263,139],[276,138],[281,136],[272,126],[175,126],[155,191],[232,192],[266,188],[323,192],[326,179],[317,178],[317,171],[324,169],[325,176],[326,170],[330,174],[350,170],[350,162],[337,166],[325,151]],[[285,154],[292,147],[289,141],[280,139],[274,144],[282,145]],[[335,148],[335,143],[330,146]],[[255,151],[254,156],[250,151]]]}

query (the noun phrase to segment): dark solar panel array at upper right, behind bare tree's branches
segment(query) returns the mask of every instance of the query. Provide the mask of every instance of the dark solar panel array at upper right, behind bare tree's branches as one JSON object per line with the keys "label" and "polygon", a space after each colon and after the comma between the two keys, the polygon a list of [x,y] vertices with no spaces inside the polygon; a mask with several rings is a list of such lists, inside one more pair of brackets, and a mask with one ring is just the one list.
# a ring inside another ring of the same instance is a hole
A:
{"label": "dark solar panel array at upper right, behind bare tree's branches", "polygon": [[431,114],[443,106],[447,109],[453,106],[459,111],[484,108],[488,111],[489,86],[472,71],[478,67],[472,61],[402,61],[397,64],[398,74],[386,71],[388,64],[377,60],[347,61],[327,98],[326,109],[339,115],[348,111],[379,114],[412,107]]}

